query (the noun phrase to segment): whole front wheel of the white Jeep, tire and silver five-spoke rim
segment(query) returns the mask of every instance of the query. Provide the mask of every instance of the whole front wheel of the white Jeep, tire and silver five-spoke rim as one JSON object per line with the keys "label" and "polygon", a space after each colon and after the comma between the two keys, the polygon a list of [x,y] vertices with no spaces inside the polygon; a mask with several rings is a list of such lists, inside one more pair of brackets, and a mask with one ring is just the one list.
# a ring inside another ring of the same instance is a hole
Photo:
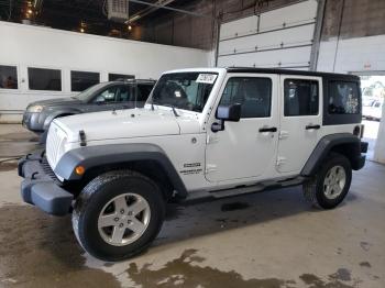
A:
{"label": "whole front wheel of the white Jeep, tire and silver five-spoke rim", "polygon": [[120,261],[145,250],[161,230],[165,201],[157,185],[130,170],[91,180],[77,199],[73,226],[80,245],[103,261]]}

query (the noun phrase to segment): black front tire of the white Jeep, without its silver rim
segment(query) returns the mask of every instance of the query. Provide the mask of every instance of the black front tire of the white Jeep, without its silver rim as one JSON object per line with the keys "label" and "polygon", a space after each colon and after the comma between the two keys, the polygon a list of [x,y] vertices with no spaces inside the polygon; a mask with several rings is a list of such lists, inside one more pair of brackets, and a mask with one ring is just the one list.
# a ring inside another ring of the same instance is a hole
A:
{"label": "black front tire of the white Jeep, without its silver rim", "polygon": [[[150,207],[151,217],[144,233],[133,243],[114,246],[105,241],[98,230],[98,219],[111,199],[136,193]],[[143,252],[158,234],[165,217],[165,200],[158,186],[150,178],[131,170],[114,170],[91,180],[76,200],[73,228],[80,245],[102,261],[122,261]]]}

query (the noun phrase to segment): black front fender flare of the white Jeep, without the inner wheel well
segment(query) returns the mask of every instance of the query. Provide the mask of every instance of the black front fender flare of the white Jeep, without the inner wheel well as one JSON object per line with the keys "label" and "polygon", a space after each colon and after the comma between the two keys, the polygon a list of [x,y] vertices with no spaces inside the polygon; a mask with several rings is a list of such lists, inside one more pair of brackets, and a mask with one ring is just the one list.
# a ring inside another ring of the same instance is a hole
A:
{"label": "black front fender flare of the white Jeep, without the inner wheel well", "polygon": [[87,171],[95,167],[138,160],[156,162],[164,169],[178,195],[187,197],[187,190],[179,174],[166,153],[154,144],[113,144],[72,149],[63,155],[54,171],[66,180],[79,180],[81,176],[75,173],[75,168],[79,165]]}

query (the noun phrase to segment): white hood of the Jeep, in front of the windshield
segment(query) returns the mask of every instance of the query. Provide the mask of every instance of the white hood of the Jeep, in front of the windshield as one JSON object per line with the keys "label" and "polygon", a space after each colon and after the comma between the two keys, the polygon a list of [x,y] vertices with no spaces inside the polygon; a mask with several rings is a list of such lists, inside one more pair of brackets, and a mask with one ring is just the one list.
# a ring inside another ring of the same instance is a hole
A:
{"label": "white hood of the Jeep, in front of the windshield", "polygon": [[68,135],[69,142],[79,141],[82,130],[87,141],[133,139],[146,136],[198,133],[195,115],[175,117],[170,110],[128,109],[77,114],[54,120]]}

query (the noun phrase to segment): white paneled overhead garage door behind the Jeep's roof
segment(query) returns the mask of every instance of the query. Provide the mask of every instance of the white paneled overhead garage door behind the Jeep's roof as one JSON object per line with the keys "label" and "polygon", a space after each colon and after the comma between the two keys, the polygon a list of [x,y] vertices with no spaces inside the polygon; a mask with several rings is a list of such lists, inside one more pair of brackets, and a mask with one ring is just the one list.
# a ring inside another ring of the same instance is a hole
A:
{"label": "white paneled overhead garage door behind the Jeep's roof", "polygon": [[309,69],[317,0],[221,24],[217,66]]}

